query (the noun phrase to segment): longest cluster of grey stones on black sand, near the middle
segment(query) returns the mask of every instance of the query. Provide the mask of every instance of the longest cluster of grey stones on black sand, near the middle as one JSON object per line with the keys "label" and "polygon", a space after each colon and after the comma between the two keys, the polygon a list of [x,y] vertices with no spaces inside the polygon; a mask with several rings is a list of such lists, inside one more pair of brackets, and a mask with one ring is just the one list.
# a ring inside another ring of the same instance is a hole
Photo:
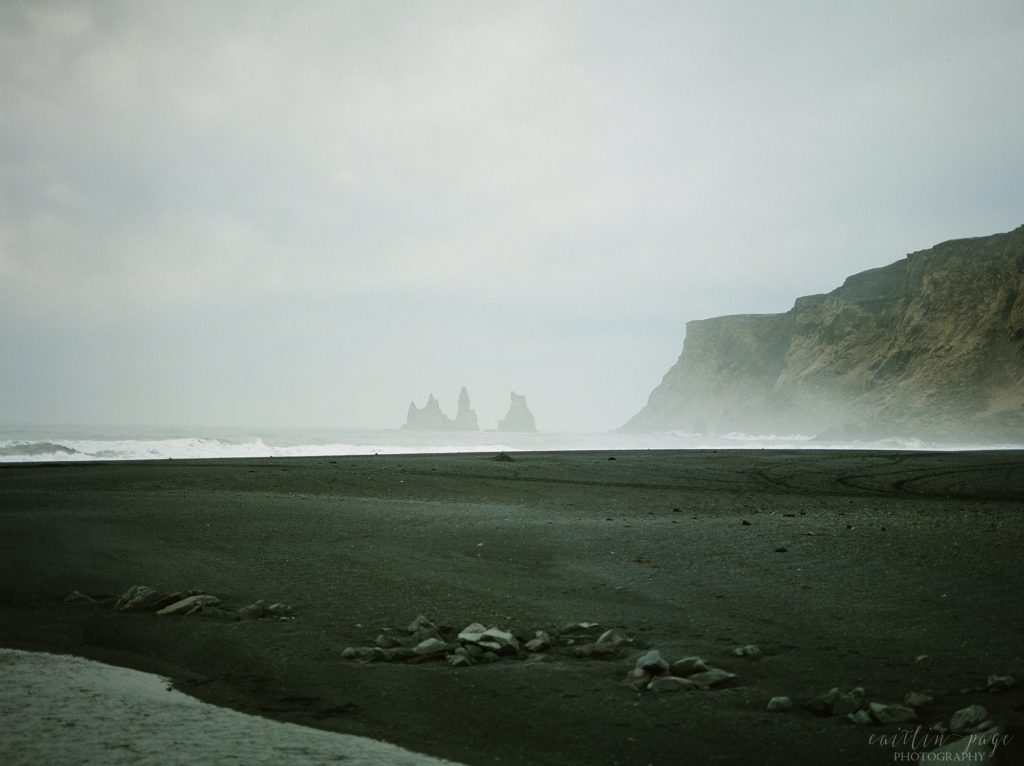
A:
{"label": "longest cluster of grey stones on black sand, near the middle", "polygon": [[419,615],[403,629],[389,629],[373,645],[349,646],[341,655],[366,663],[444,661],[461,668],[503,659],[539,662],[552,656],[611,658],[634,640],[597,623],[570,623],[560,629],[521,631],[470,623],[462,630],[438,626]]}

